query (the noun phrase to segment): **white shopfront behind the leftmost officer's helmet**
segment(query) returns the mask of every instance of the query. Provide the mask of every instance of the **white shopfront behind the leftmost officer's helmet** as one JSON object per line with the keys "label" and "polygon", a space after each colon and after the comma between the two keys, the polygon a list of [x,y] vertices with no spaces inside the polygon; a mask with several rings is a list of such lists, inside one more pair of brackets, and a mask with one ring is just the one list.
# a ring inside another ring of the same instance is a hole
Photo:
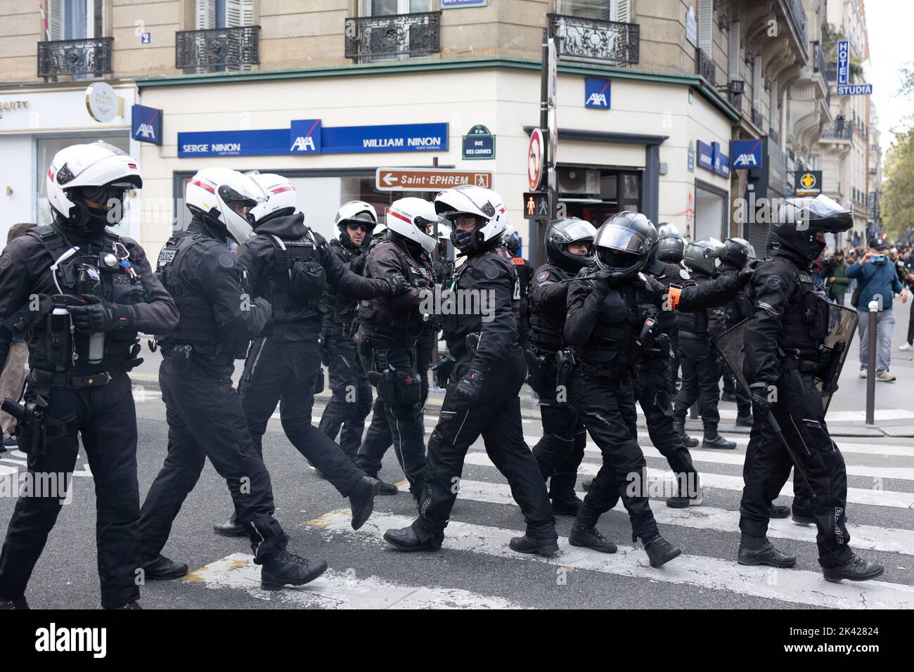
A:
{"label": "white shopfront behind the leftmost officer's helmet", "polygon": [[[94,93],[86,84],[0,88],[0,240],[16,222],[50,222],[45,175],[62,148],[101,140],[139,151],[130,137],[135,93],[133,82]],[[119,230],[138,234],[138,208],[128,205]]]}

